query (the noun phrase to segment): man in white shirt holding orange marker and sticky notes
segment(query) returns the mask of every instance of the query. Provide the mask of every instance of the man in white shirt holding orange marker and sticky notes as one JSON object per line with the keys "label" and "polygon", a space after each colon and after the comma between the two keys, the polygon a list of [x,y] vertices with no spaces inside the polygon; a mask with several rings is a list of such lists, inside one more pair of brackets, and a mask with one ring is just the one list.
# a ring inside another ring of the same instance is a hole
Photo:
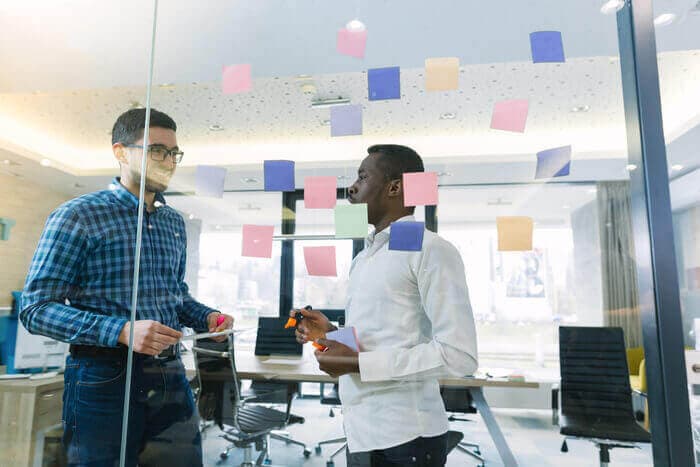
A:
{"label": "man in white shirt holding orange marker and sticky notes", "polygon": [[351,203],[367,203],[375,231],[353,260],[345,308],[359,352],[325,339],[335,329],[319,311],[304,319],[300,342],[316,340],[319,367],[339,377],[348,466],[442,466],[448,420],[438,378],[477,368],[476,333],[464,264],[457,249],[425,231],[421,251],[389,250],[394,222],[413,221],[403,204],[403,174],[423,172],[406,146],[370,147]]}

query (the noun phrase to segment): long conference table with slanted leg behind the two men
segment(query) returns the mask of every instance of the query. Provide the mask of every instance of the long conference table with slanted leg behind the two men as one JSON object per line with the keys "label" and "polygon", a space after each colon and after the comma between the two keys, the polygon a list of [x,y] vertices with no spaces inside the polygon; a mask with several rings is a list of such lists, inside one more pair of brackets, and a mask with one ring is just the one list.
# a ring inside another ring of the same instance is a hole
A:
{"label": "long conference table with slanted leg behind the two men", "polygon": [[[262,357],[254,355],[253,349],[238,348],[235,352],[236,372],[239,379],[267,380],[279,382],[304,382],[304,383],[335,383],[336,378],[322,372],[318,368],[318,362],[313,356],[313,348],[310,345],[304,346],[304,354],[301,357]],[[187,362],[192,359],[191,353],[184,357],[188,374],[194,377],[194,362]],[[498,454],[505,466],[517,466],[515,456],[508,446],[501,428],[498,426],[496,418],[491,412],[483,388],[526,388],[537,389],[538,382],[533,381],[510,381],[506,378],[444,378],[440,380],[440,385],[449,388],[465,388],[472,395],[476,410],[484,420],[484,424],[496,445]]]}

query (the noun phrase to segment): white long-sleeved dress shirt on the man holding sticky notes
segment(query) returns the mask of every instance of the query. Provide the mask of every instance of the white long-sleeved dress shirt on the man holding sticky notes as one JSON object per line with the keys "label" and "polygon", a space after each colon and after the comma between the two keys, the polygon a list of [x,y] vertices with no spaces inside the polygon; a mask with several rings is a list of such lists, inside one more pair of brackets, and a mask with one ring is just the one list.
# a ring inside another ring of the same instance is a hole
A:
{"label": "white long-sleeved dress shirt on the man holding sticky notes", "polygon": [[370,234],[350,268],[346,325],[357,332],[360,373],[339,380],[350,452],[445,433],[438,378],[477,368],[459,252],[428,230],[421,251],[389,250],[389,233]]}

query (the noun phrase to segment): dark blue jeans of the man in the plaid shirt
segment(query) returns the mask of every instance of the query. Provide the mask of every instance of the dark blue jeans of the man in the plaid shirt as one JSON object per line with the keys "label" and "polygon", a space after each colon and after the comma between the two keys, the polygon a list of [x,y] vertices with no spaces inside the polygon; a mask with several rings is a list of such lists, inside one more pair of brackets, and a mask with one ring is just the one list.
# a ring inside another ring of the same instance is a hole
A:
{"label": "dark blue jeans of the man in the plaid shirt", "polygon": [[[71,466],[119,465],[126,358],[69,356],[63,445]],[[199,419],[179,359],[134,355],[126,465],[201,466]]]}

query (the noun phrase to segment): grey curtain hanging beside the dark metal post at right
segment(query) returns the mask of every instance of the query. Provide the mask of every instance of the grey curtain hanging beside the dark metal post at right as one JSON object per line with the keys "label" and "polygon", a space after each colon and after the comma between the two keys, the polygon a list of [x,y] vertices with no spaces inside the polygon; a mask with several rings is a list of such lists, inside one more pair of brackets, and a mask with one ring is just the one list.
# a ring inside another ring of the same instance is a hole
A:
{"label": "grey curtain hanging beside the dark metal post at right", "polygon": [[642,324],[628,181],[598,183],[598,215],[604,323],[623,329],[628,348],[641,347]]}

